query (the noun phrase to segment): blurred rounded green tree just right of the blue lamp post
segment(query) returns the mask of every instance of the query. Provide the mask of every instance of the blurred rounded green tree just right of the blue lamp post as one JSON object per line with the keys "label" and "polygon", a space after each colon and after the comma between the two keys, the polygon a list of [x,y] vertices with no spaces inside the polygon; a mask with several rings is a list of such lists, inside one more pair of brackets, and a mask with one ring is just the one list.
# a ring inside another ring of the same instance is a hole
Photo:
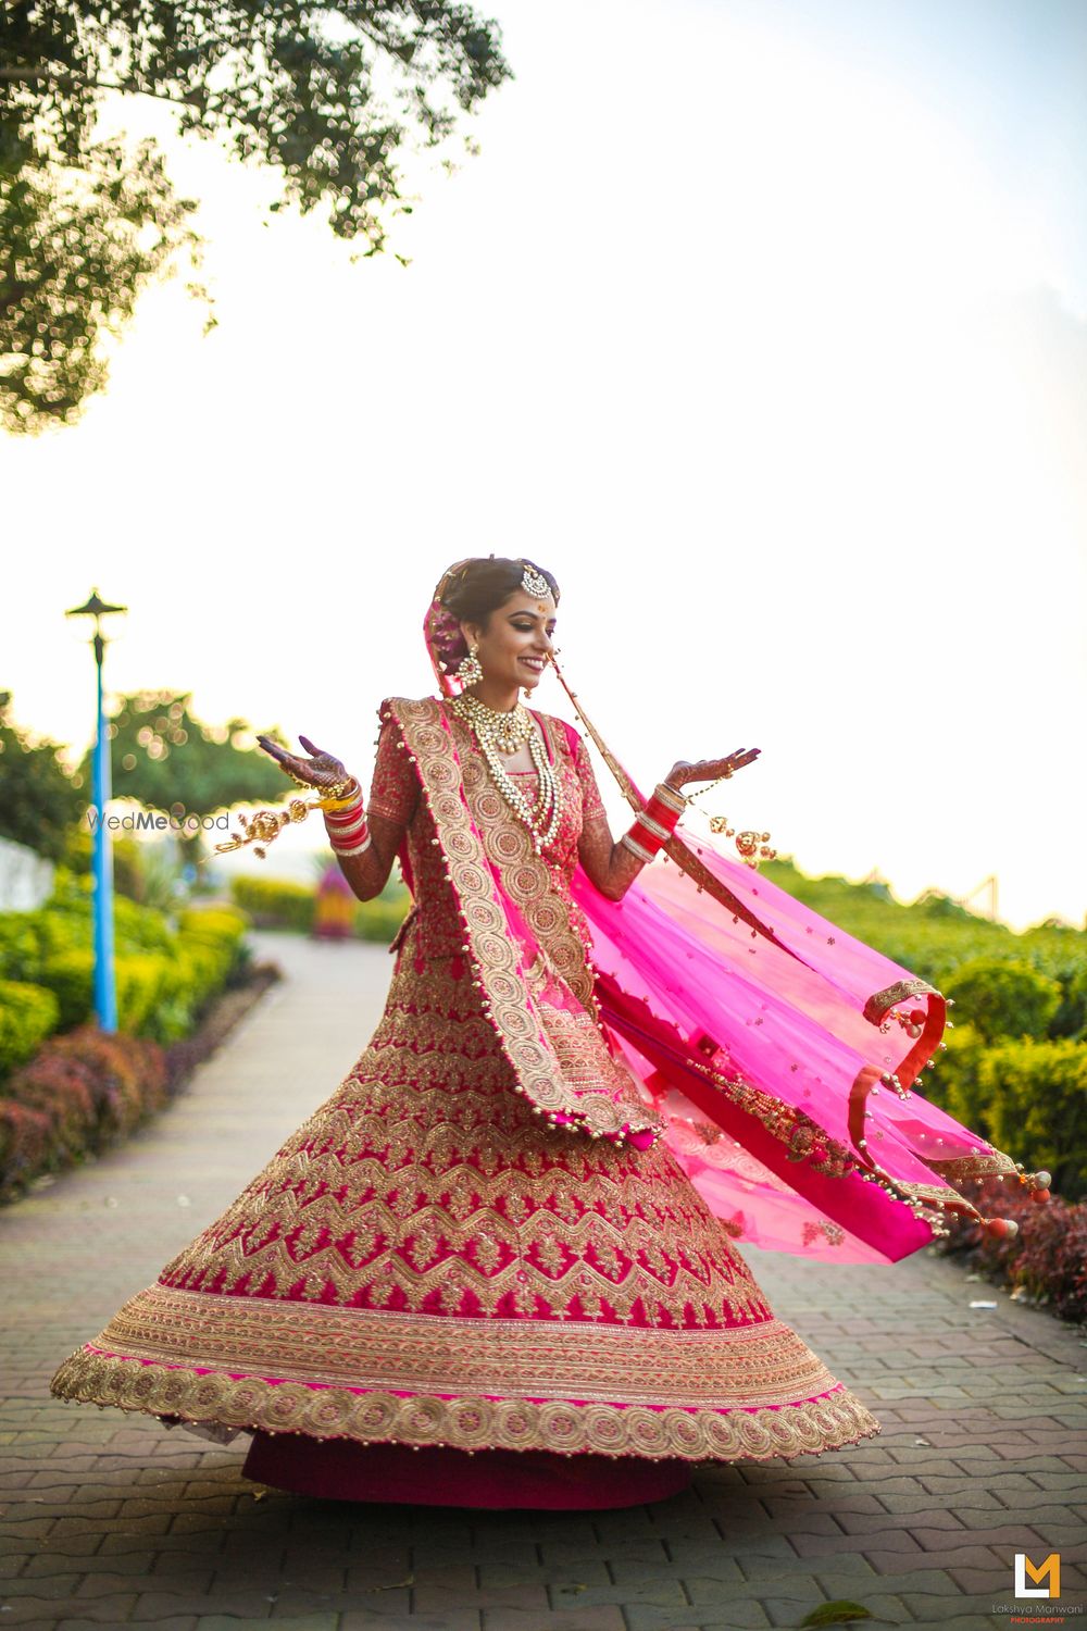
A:
{"label": "blurred rounded green tree just right of the blue lamp post", "polygon": [[[189,695],[135,692],[117,698],[106,727],[114,798],[135,799],[179,820],[213,816],[231,804],[282,799],[290,785],[253,745],[246,721],[202,724],[189,711]],[[90,775],[90,754],[80,768]]]}

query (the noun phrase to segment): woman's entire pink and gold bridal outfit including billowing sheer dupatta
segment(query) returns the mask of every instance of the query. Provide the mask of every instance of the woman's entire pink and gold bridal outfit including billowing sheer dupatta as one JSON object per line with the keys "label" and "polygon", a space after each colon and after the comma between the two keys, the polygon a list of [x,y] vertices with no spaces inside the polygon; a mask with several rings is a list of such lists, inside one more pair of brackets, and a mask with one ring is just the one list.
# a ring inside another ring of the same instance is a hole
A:
{"label": "woman's entire pink and gold bridal outfit including billowing sheer dupatta", "polygon": [[815,956],[831,925],[709,851],[701,884],[605,902],[561,721],[536,855],[442,701],[381,714],[370,811],[406,824],[414,907],[378,1029],[54,1393],[251,1430],[279,1487],[481,1507],[654,1501],[878,1432],[733,1243],[893,1261],[965,1205],[953,1171],[1012,1169],[893,1080],[939,993],[847,936]]}

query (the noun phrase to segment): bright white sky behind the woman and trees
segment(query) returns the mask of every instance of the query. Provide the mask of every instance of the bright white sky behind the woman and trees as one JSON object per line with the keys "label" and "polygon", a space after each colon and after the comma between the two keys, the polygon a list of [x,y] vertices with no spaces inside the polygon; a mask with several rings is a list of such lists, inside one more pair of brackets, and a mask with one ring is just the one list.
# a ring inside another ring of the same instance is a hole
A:
{"label": "bright white sky behind the woman and trees", "polygon": [[640,785],[759,747],[707,809],[805,871],[1082,923],[1087,8],[484,10],[515,80],[479,157],[414,171],[407,266],[108,113],[202,199],[218,328],[150,290],[77,427],[0,439],[16,718],[86,745],[95,586],[112,688],[367,781],[445,566],[525,555]]}

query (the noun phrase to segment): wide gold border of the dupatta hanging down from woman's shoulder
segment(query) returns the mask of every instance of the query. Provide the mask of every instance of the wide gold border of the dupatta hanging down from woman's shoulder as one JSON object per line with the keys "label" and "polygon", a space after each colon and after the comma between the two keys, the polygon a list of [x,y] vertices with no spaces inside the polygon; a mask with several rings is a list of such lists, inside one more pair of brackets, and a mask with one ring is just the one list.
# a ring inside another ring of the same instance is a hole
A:
{"label": "wide gold border of the dupatta hanging down from woman's shoulder", "polygon": [[[652,1130],[660,1138],[663,1124],[655,1112],[616,1103],[614,1094],[605,1086],[596,1091],[575,1091],[564,1080],[536,1003],[528,992],[518,946],[510,939],[487,856],[473,832],[463,802],[461,768],[455,757],[451,727],[443,723],[442,705],[430,696],[420,701],[396,696],[389,698],[388,706],[416,758],[424,796],[450,863],[468,944],[487,997],[487,1010],[502,1050],[513,1067],[517,1086],[543,1114],[562,1111],[583,1122],[585,1129],[598,1137],[614,1135],[629,1124],[631,1130]],[[510,846],[513,825],[512,820],[504,824],[504,830],[510,833],[505,843]]]}

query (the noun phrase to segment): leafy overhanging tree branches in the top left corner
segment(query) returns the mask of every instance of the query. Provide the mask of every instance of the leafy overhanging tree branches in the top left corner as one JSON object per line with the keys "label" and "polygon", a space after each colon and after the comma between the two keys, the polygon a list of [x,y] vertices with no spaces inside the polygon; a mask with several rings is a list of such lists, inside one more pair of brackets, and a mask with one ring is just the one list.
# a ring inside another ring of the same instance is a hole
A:
{"label": "leafy overhanging tree branches in the top left corner", "polygon": [[[0,15],[0,422],[72,422],[101,390],[96,338],[197,248],[153,142],[96,142],[104,98],[152,96],[181,135],[282,178],[375,254],[407,210],[409,145],[440,147],[508,78],[456,0],[8,0]],[[280,202],[272,209],[280,207]]]}

